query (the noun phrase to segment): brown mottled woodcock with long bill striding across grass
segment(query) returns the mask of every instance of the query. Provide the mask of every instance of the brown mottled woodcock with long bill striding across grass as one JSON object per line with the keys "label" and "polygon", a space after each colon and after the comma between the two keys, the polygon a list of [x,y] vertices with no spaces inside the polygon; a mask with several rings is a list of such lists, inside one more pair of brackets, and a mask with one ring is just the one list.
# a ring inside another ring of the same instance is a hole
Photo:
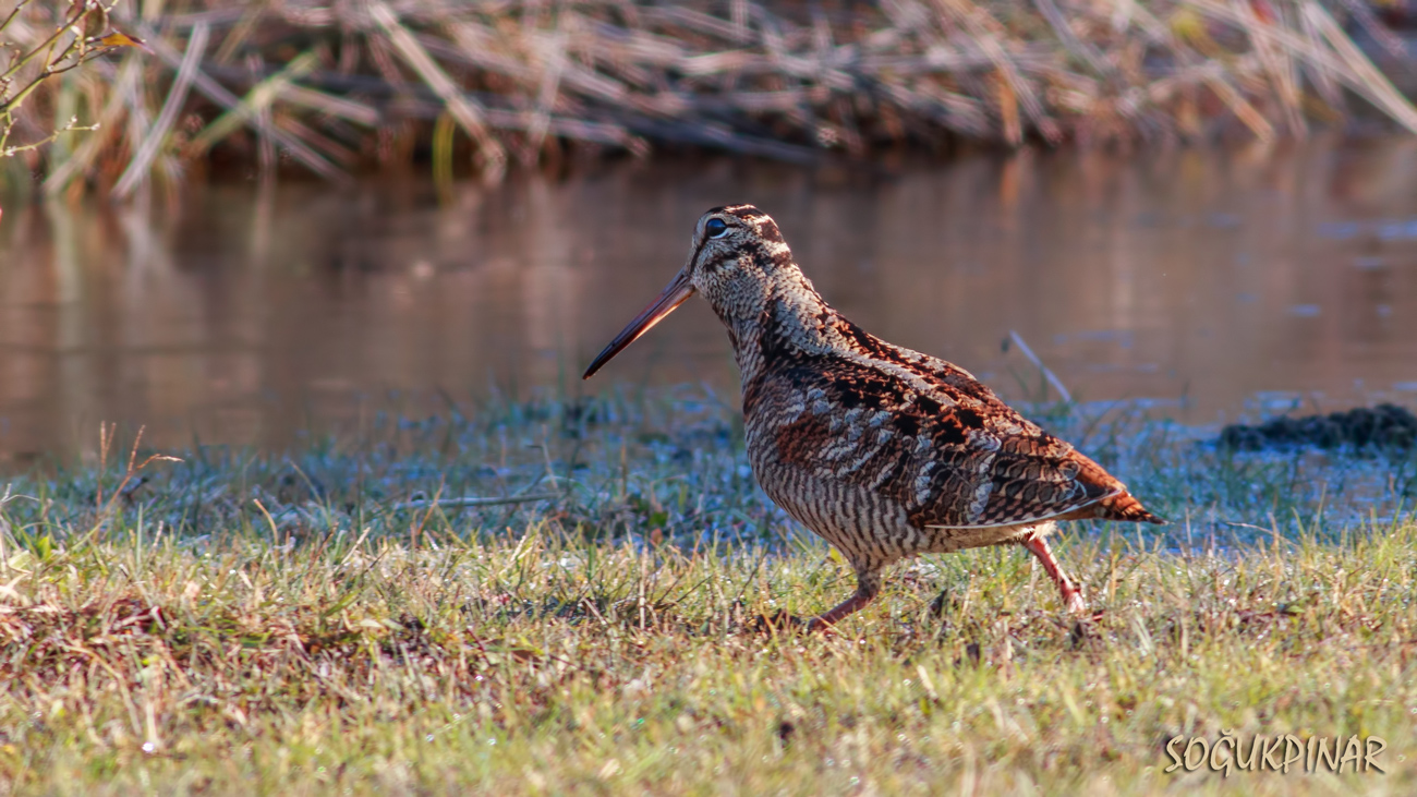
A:
{"label": "brown mottled woodcock with long bill striding across grass", "polygon": [[887,343],[832,309],[778,225],[748,204],[699,220],[689,262],[585,377],[694,292],[728,328],[758,484],[856,569],[856,593],[808,628],[870,603],[896,560],[988,545],[1033,552],[1067,608],[1084,611],[1049,550],[1056,522],[1165,522],[969,372]]}

